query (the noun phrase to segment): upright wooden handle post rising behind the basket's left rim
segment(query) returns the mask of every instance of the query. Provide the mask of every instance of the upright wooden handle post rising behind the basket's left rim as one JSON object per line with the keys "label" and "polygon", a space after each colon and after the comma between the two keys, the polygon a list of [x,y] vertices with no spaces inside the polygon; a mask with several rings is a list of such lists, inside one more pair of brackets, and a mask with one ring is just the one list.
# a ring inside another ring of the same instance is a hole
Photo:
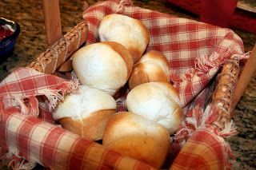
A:
{"label": "upright wooden handle post rising behind the basket's left rim", "polygon": [[53,45],[62,38],[62,24],[59,10],[59,0],[42,0],[42,9],[46,26],[48,45]]}

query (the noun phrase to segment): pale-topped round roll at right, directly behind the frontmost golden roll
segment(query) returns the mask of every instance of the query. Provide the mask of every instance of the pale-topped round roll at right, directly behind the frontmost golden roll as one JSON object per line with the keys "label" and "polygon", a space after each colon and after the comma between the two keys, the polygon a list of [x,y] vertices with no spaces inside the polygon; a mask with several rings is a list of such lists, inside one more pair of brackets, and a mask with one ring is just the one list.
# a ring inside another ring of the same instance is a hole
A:
{"label": "pale-topped round roll at right, directly behind the frontmost golden roll", "polygon": [[158,122],[170,135],[182,121],[178,93],[170,83],[148,82],[134,87],[126,97],[127,109]]}

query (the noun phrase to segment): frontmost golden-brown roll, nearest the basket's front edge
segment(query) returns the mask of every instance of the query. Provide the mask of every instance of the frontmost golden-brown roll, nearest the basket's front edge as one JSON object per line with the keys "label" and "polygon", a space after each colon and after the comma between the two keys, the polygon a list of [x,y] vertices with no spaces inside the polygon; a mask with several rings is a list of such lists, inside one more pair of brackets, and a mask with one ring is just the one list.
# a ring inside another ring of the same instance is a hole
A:
{"label": "frontmost golden-brown roll, nearest the basket's front edge", "polygon": [[117,152],[160,168],[170,148],[170,135],[162,125],[128,112],[107,122],[102,144]]}

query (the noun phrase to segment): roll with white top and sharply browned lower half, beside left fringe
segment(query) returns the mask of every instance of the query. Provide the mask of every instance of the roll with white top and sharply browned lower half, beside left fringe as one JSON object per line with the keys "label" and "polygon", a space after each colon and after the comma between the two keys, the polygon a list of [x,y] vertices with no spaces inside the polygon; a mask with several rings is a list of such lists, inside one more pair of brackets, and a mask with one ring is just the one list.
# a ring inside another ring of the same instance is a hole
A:
{"label": "roll with white top and sharply browned lower half, beside left fringe", "polygon": [[90,140],[100,140],[106,122],[116,113],[116,108],[116,102],[109,94],[79,85],[76,93],[70,93],[58,104],[53,116],[62,128]]}

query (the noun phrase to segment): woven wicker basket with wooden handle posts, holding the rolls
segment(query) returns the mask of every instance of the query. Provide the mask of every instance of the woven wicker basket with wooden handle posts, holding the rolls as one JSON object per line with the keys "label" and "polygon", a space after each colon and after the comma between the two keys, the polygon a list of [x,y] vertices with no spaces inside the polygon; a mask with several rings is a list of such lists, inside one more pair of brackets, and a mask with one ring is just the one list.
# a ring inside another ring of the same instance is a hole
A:
{"label": "woven wicker basket with wooden handle posts, holding the rolls", "polygon": [[[43,6],[46,35],[50,47],[30,64],[30,68],[42,73],[66,76],[66,74],[60,73],[59,70],[66,62],[69,62],[70,56],[85,44],[88,31],[87,24],[86,22],[78,23],[62,37],[58,1],[44,0]],[[255,64],[254,58],[253,56],[250,57],[239,80],[238,57],[233,57],[222,66],[222,71],[218,73],[214,93],[210,99],[210,105],[214,105],[214,108],[218,110],[218,117],[215,117],[215,120],[211,123],[213,127],[222,130],[226,123],[230,122],[231,113],[254,73],[254,69],[252,69],[254,68],[252,65]]]}

